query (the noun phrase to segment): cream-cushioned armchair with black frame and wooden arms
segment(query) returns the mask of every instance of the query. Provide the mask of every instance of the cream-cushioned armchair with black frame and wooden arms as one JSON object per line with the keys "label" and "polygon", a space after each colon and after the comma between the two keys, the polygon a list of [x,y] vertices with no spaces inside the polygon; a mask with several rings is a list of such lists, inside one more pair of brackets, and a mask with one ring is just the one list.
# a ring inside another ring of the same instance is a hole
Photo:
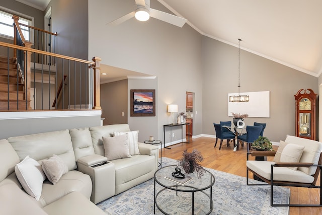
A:
{"label": "cream-cushioned armchair with black frame and wooden arms", "polygon": [[[321,193],[322,183],[322,142],[297,136],[287,136],[280,141],[277,151],[252,151],[247,153],[247,185],[270,185],[271,206],[322,206],[322,199],[309,199],[301,196],[300,202],[278,204],[273,201],[273,188],[276,186],[317,188]],[[249,156],[274,156],[270,161],[250,160]],[[263,182],[249,181],[249,172]],[[302,200],[301,200],[302,199]],[[295,202],[295,201],[294,201]],[[316,203],[315,203],[316,202]],[[311,204],[310,204],[311,203]]]}

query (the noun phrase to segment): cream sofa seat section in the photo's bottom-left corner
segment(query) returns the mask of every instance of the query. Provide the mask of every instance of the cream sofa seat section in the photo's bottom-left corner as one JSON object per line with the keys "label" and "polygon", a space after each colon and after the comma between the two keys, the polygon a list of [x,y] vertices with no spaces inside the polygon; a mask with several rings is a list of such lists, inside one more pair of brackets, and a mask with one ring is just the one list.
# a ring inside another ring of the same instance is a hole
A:
{"label": "cream sofa seat section in the photo's bottom-left corner", "polygon": [[15,184],[0,186],[1,214],[47,214],[27,193]]}

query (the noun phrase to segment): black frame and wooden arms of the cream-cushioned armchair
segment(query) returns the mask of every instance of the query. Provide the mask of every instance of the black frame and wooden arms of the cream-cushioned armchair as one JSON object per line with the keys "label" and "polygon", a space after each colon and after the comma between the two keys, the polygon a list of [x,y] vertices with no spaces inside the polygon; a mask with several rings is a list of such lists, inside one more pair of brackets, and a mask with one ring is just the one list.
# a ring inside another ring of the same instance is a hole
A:
{"label": "black frame and wooden arms of the cream-cushioned armchair", "polygon": [[[253,151],[250,153],[247,153],[247,160],[249,159],[249,155],[251,156],[274,156],[276,152],[269,152],[269,151]],[[288,181],[274,181],[274,167],[317,167],[315,173],[312,175],[314,177],[314,181],[312,183],[298,183],[298,182],[288,182]],[[261,180],[263,180],[264,183],[256,183],[256,184],[250,184],[249,183],[249,172],[252,172],[254,175],[259,177]],[[320,184],[319,186],[316,185],[316,181],[318,178],[318,175],[320,174]],[[273,187],[275,186],[288,186],[288,187],[306,187],[306,188],[318,188],[319,192],[321,194],[322,191],[322,153],[320,154],[319,160],[317,164],[312,163],[276,163],[274,165],[271,165],[271,179],[268,180],[255,171],[249,169],[247,167],[247,185],[270,185],[271,186],[271,206],[296,206],[296,207],[307,207],[307,206],[322,206],[322,199],[320,196],[319,204],[273,204]]]}

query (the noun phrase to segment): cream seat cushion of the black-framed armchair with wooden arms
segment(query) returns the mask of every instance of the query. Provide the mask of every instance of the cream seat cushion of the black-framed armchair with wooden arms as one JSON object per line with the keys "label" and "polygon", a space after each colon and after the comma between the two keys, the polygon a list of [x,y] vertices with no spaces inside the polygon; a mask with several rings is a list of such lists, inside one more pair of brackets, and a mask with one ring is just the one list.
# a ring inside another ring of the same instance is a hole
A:
{"label": "cream seat cushion of the black-framed armchair with wooden arms", "polygon": [[[271,165],[275,164],[272,161],[247,161],[246,165],[249,169],[258,173],[262,177],[271,180]],[[274,181],[289,181],[299,183],[312,183],[314,177],[307,175],[302,171],[294,171],[287,167],[274,167]]]}

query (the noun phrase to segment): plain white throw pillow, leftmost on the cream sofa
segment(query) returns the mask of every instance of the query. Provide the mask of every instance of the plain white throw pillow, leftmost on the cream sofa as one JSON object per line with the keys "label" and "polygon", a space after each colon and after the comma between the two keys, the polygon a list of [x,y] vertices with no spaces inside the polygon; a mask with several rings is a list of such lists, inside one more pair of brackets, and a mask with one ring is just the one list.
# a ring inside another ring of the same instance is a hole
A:
{"label": "plain white throw pillow, leftmost on the cream sofa", "polygon": [[41,196],[42,184],[46,179],[41,165],[27,156],[15,166],[15,173],[26,192],[38,201]]}

